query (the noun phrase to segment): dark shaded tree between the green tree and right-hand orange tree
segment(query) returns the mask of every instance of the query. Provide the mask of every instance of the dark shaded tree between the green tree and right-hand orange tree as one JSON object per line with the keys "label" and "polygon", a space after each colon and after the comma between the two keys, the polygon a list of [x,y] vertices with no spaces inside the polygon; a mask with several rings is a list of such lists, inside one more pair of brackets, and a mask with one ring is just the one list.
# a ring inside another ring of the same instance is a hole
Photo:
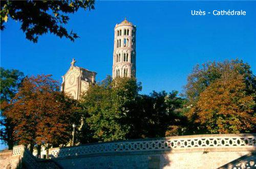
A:
{"label": "dark shaded tree between the green tree and right-hand orange tree", "polygon": [[153,91],[150,95],[139,95],[136,104],[131,106],[133,113],[129,116],[129,120],[126,120],[132,126],[129,138],[181,134],[171,131],[174,126],[180,129],[186,120],[180,112],[185,100],[179,98],[177,94],[177,91],[170,93]]}

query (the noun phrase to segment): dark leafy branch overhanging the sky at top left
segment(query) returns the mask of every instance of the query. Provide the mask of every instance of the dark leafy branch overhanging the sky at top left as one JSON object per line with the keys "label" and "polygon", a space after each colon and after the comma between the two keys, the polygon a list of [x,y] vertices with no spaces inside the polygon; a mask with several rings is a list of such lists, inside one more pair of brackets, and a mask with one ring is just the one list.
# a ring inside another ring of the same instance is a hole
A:
{"label": "dark leafy branch overhanging the sky at top left", "polygon": [[38,36],[48,32],[72,41],[78,35],[70,33],[64,27],[69,21],[68,14],[73,14],[79,8],[84,10],[94,9],[94,1],[1,1],[1,30],[10,18],[22,23],[21,29],[26,38],[34,43]]}

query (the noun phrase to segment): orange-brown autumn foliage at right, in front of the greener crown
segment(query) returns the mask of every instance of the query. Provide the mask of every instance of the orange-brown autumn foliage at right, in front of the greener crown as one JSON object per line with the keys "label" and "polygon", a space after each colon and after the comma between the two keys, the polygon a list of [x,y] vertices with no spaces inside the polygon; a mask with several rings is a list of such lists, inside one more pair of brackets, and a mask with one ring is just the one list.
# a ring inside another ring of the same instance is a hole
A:
{"label": "orange-brown autumn foliage at right, in front of the greener crown", "polygon": [[243,76],[229,75],[210,84],[190,112],[210,133],[244,133],[255,125],[254,105],[253,97],[245,94]]}

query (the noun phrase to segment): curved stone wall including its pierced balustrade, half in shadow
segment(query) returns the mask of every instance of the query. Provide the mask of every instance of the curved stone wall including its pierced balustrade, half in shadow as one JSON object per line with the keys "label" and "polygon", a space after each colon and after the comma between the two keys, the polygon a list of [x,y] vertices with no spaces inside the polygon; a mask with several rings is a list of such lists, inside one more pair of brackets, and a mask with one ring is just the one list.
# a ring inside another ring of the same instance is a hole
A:
{"label": "curved stone wall including its pierced balustrade, half in shadow", "polygon": [[95,143],[50,149],[49,157],[63,168],[217,168],[254,152],[255,136],[194,135]]}

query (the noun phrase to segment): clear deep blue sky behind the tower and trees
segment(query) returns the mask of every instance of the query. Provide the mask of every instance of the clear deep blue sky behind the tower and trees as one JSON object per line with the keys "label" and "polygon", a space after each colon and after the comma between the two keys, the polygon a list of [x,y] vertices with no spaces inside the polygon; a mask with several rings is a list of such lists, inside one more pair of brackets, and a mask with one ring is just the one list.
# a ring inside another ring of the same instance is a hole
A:
{"label": "clear deep blue sky behind the tower and trees", "polygon": [[[191,10],[244,10],[246,16],[191,16]],[[1,66],[25,75],[61,76],[76,65],[96,71],[97,81],[112,74],[114,27],[124,17],[137,27],[137,79],[142,93],[182,91],[194,65],[206,61],[243,59],[255,74],[256,2],[107,1],[95,10],[70,16],[71,42],[51,34],[38,43],[25,39],[20,23],[9,20],[1,31]]]}

